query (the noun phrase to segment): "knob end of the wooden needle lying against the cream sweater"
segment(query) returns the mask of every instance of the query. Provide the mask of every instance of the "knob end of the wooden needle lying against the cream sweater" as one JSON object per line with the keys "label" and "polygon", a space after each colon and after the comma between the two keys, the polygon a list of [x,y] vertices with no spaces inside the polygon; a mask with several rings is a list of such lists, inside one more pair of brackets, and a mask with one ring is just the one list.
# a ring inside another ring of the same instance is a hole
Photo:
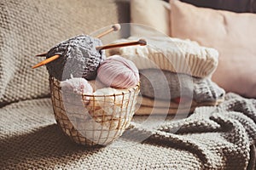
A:
{"label": "knob end of the wooden needle lying against the cream sweater", "polygon": [[122,48],[126,46],[133,46],[133,45],[147,45],[147,41],[144,39],[139,39],[137,42],[121,42],[121,43],[113,43],[113,44],[108,44],[108,45],[103,45],[103,46],[98,46],[96,47],[97,50],[102,50],[102,49],[109,49],[109,48]]}

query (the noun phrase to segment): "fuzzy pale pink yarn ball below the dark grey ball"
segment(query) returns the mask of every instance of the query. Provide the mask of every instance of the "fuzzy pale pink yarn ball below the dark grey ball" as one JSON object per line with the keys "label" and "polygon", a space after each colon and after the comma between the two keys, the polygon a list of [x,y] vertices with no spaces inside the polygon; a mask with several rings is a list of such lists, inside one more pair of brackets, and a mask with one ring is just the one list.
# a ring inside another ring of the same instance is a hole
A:
{"label": "fuzzy pale pink yarn ball below the dark grey ball", "polygon": [[82,99],[82,94],[93,94],[93,88],[84,78],[73,77],[61,82],[61,91],[64,102],[73,105],[82,105],[82,101],[87,105],[90,97]]}

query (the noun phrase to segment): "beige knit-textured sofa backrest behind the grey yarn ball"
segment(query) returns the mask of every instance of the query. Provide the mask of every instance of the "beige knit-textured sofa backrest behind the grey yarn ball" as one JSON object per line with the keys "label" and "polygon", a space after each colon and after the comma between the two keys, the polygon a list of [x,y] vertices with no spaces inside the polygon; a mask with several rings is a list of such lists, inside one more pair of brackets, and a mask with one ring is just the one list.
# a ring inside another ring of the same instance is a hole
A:
{"label": "beige knit-textured sofa backrest behind the grey yarn ball", "polygon": [[[121,21],[114,0],[2,0],[0,2],[0,106],[49,95],[45,67],[32,70],[55,44]],[[102,17],[104,16],[104,17]]]}

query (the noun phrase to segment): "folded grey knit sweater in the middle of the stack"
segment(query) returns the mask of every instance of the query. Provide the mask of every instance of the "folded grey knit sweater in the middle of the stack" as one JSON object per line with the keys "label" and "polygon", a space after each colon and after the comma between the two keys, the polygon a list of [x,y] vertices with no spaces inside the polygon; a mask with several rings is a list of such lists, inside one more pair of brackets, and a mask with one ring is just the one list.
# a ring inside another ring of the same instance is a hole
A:
{"label": "folded grey knit sweater in the middle of the stack", "polygon": [[211,102],[223,99],[225,94],[224,89],[219,88],[210,78],[190,77],[171,71],[141,70],[140,81],[143,96],[155,99],[191,96],[196,102]]}

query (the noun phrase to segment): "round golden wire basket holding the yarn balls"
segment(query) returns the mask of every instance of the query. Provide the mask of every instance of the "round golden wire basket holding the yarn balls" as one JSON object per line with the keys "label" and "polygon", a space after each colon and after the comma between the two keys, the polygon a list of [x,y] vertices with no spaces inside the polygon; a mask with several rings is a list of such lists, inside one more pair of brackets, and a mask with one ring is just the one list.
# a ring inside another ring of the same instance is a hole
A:
{"label": "round golden wire basket holding the yarn balls", "polygon": [[49,77],[55,120],[77,144],[107,145],[124,133],[135,112],[139,85],[119,94],[86,95],[63,92]]}

